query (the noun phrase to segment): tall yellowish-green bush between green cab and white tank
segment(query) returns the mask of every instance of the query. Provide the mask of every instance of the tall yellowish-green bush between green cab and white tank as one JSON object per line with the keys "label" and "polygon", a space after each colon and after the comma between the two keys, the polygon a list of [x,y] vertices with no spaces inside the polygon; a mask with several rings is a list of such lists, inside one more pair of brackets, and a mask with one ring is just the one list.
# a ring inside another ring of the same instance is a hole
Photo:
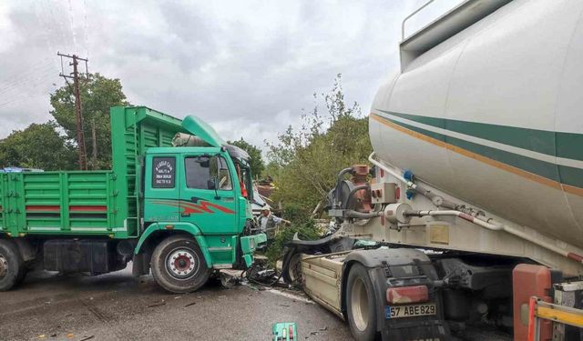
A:
{"label": "tall yellowish-green bush between green cab and white tank", "polygon": [[368,120],[358,104],[344,102],[341,75],[338,75],[323,99],[325,112],[316,105],[311,113],[302,115],[302,127],[292,127],[278,135],[278,143],[269,144],[269,175],[277,189],[272,197],[283,206],[302,209],[308,216],[328,194],[343,168],[367,164],[372,152],[368,135]]}

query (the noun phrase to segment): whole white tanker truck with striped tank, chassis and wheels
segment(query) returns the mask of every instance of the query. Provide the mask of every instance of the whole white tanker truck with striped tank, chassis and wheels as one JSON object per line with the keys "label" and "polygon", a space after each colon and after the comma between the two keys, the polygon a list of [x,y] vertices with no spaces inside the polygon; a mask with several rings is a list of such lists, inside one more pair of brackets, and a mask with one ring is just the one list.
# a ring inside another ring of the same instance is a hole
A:
{"label": "whole white tanker truck with striped tank, chassis and wheels", "polygon": [[468,0],[400,49],[369,117],[372,179],[341,172],[335,232],[294,240],[284,278],[357,340],[526,340],[530,296],[583,304],[583,1]]}

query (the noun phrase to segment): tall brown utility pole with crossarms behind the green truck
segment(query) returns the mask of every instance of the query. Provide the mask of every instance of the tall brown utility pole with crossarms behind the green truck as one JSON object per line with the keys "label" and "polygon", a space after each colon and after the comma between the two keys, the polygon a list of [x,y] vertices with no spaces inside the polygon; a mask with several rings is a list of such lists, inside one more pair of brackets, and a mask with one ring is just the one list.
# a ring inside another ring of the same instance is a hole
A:
{"label": "tall brown utility pole with crossarms behind the green truck", "polygon": [[[67,85],[69,84],[68,79],[73,79],[73,94],[75,95],[75,113],[77,115],[77,154],[79,157],[79,169],[80,170],[87,170],[87,149],[85,148],[85,134],[83,132],[83,114],[81,113],[81,94],[79,89],[79,73],[77,70],[77,65],[80,61],[85,62],[85,75],[87,77],[87,62],[88,60],[85,58],[80,58],[77,55],[64,55],[61,53],[56,53],[56,55],[61,57],[61,73],[59,74],[63,78],[65,78],[65,82]],[[69,63],[73,65],[73,72],[65,75],[63,69],[63,57],[73,59],[73,62]]]}

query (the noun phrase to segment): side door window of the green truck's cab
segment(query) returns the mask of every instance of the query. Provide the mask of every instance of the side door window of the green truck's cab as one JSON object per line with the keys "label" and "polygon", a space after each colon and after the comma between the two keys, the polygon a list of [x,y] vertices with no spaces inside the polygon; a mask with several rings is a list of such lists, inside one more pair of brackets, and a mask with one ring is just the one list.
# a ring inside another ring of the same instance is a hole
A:
{"label": "side door window of the green truck's cab", "polygon": [[193,189],[230,191],[232,179],[222,156],[189,156],[184,159],[186,186]]}

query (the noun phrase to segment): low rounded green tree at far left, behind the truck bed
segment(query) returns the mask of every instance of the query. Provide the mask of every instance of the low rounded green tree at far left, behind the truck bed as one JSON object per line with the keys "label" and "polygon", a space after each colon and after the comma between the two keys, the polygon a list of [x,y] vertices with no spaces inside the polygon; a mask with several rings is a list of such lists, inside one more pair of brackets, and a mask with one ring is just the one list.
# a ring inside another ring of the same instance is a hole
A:
{"label": "low rounded green tree at far left, behind the truck bed", "polygon": [[57,170],[75,164],[76,153],[56,131],[54,121],[31,124],[0,141],[0,167],[20,166]]}

